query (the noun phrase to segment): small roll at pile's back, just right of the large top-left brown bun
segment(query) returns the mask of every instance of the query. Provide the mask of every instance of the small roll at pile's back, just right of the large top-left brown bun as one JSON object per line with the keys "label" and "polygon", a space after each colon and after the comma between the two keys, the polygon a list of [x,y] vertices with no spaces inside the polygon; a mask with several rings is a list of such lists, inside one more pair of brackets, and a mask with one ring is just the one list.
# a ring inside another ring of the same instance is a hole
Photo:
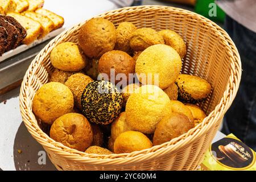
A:
{"label": "small roll at pile's back, just right of the large top-left brown bun", "polygon": [[135,25],[130,22],[122,22],[117,27],[117,43],[115,44],[115,50],[131,53],[130,40],[133,32],[137,30]]}

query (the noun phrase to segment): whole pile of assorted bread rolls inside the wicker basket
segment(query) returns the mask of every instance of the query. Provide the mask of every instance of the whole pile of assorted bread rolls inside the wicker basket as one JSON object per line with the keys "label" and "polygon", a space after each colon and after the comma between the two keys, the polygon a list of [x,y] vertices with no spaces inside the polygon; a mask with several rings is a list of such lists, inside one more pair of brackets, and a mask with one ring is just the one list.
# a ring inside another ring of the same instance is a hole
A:
{"label": "whole pile of assorted bread rolls inside the wicker basket", "polygon": [[[122,154],[163,144],[206,117],[198,106],[211,92],[203,78],[180,74],[186,55],[183,38],[171,30],[88,20],[79,43],[53,48],[55,70],[36,92],[33,111],[51,126],[56,142],[88,154]],[[138,81],[111,77],[145,75]],[[148,75],[157,74],[150,80]],[[109,80],[101,75],[109,76]]]}

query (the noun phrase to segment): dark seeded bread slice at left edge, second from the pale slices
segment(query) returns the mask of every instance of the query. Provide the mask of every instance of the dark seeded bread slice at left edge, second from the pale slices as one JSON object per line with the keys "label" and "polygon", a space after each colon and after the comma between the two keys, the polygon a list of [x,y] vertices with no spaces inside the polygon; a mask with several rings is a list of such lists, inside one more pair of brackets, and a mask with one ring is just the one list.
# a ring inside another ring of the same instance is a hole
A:
{"label": "dark seeded bread slice at left edge, second from the pale slices", "polygon": [[13,24],[9,23],[2,17],[0,17],[0,26],[5,27],[8,33],[5,51],[10,51],[13,49],[13,46],[16,43],[16,40],[19,36],[19,31],[15,26],[13,26]]}

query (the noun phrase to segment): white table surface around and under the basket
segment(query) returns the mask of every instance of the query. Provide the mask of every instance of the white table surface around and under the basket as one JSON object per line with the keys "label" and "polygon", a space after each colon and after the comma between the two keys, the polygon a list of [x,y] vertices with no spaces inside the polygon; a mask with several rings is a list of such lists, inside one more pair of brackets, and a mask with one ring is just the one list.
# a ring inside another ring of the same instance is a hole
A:
{"label": "white table surface around and under the basket", "polygon": [[[64,27],[68,28],[117,6],[108,0],[46,0],[44,8],[64,16]],[[56,170],[48,158],[46,164],[38,164],[38,153],[44,150],[22,122],[18,96],[19,88],[0,96],[0,170]],[[224,136],[217,133],[214,141]]]}

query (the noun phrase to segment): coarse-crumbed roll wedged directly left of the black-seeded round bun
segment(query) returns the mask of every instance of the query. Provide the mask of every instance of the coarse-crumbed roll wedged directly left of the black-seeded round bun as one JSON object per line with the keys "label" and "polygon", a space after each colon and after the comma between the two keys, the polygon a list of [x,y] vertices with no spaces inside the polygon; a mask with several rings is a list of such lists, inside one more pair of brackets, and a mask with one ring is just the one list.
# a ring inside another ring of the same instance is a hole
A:
{"label": "coarse-crumbed roll wedged directly left of the black-seeded round bun", "polygon": [[70,76],[68,80],[65,82],[65,85],[68,86],[68,88],[73,93],[75,106],[80,110],[82,109],[82,92],[84,92],[84,89],[89,84],[89,82],[93,82],[92,78],[84,75],[83,73],[76,73]]}

